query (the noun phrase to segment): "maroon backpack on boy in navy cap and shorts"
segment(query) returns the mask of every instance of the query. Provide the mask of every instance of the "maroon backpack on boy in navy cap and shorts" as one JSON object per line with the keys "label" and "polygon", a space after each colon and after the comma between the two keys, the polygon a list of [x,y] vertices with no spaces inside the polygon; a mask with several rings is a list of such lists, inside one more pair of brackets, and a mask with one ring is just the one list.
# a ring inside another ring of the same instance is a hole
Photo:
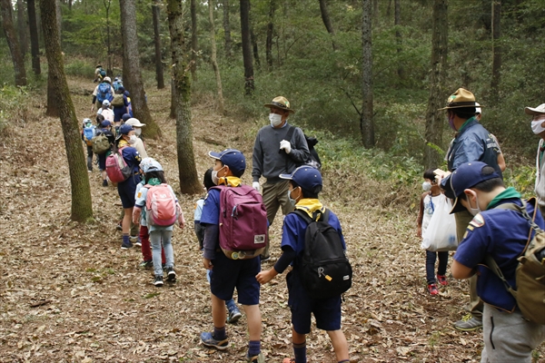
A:
{"label": "maroon backpack on boy in navy cap and shorts", "polygon": [[248,185],[220,191],[220,248],[231,260],[253,259],[267,244],[267,211],[261,194]]}

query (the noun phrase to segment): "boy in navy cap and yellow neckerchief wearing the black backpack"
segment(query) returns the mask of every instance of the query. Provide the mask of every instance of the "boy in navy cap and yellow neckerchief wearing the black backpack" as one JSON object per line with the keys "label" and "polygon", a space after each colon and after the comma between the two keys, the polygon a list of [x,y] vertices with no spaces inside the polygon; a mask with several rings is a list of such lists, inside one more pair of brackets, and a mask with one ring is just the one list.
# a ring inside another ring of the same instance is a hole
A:
{"label": "boy in navy cap and yellow neckerchief wearing the black backpack", "polygon": [[[310,218],[327,215],[318,193],[322,191],[322,174],[310,167],[301,166],[292,174],[281,174],[280,178],[290,181],[288,198],[295,206],[295,211],[304,211]],[[341,223],[337,216],[329,211],[328,224],[339,233],[342,247],[345,249],[342,237]],[[306,221],[297,212],[286,215],[282,231],[282,256],[270,270],[262,271],[256,276],[261,284],[272,280],[282,273],[290,264],[293,270],[286,276],[289,298],[288,305],[292,310],[292,344],[295,358],[284,358],[282,363],[305,363],[306,334],[311,332],[311,314],[316,319],[316,327],[326,330],[332,339],[332,346],[339,363],[349,362],[348,343],[341,329],[341,295],[326,299],[313,299],[309,296],[299,274],[302,255],[305,247]]]}

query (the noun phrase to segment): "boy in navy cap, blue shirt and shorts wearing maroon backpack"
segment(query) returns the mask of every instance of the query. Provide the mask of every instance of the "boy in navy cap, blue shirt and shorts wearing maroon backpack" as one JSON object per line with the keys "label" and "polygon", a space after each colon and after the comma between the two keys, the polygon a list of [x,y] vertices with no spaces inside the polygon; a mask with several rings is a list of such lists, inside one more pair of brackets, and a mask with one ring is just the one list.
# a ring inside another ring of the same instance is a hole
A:
{"label": "boy in navy cap, blue shirt and shorts wearing maroon backpack", "polygon": [[[242,152],[227,149],[223,152],[209,152],[215,164],[212,180],[215,185],[237,187],[246,170],[246,159]],[[255,275],[261,270],[259,257],[249,260],[230,260],[219,245],[220,191],[211,189],[204,201],[201,225],[204,227],[203,266],[210,273],[212,292],[213,332],[201,333],[201,341],[206,347],[224,350],[229,346],[225,334],[225,301],[233,299],[234,288],[238,292],[238,301],[243,304],[248,319],[250,342],[246,360],[251,363],[263,363],[261,353],[261,311],[259,309],[259,282]]]}

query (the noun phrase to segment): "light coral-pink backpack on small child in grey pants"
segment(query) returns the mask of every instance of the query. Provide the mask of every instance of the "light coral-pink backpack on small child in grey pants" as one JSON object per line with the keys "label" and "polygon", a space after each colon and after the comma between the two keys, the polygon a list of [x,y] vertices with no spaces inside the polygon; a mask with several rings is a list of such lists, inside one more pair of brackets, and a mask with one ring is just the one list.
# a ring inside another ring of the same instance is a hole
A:
{"label": "light coral-pink backpack on small child in grey pants", "polygon": [[168,188],[168,184],[149,185],[145,197],[145,218],[148,226],[170,227],[178,219],[176,196]]}

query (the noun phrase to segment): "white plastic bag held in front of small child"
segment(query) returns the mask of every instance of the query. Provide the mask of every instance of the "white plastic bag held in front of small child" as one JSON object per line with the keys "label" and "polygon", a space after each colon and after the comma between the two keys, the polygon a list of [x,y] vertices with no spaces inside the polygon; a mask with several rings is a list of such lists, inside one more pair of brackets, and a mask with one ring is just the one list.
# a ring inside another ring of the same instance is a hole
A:
{"label": "white plastic bag held in front of small child", "polygon": [[454,214],[450,214],[451,209],[451,200],[443,195],[437,202],[431,216],[430,225],[423,235],[422,249],[441,252],[458,248],[456,219]]}

